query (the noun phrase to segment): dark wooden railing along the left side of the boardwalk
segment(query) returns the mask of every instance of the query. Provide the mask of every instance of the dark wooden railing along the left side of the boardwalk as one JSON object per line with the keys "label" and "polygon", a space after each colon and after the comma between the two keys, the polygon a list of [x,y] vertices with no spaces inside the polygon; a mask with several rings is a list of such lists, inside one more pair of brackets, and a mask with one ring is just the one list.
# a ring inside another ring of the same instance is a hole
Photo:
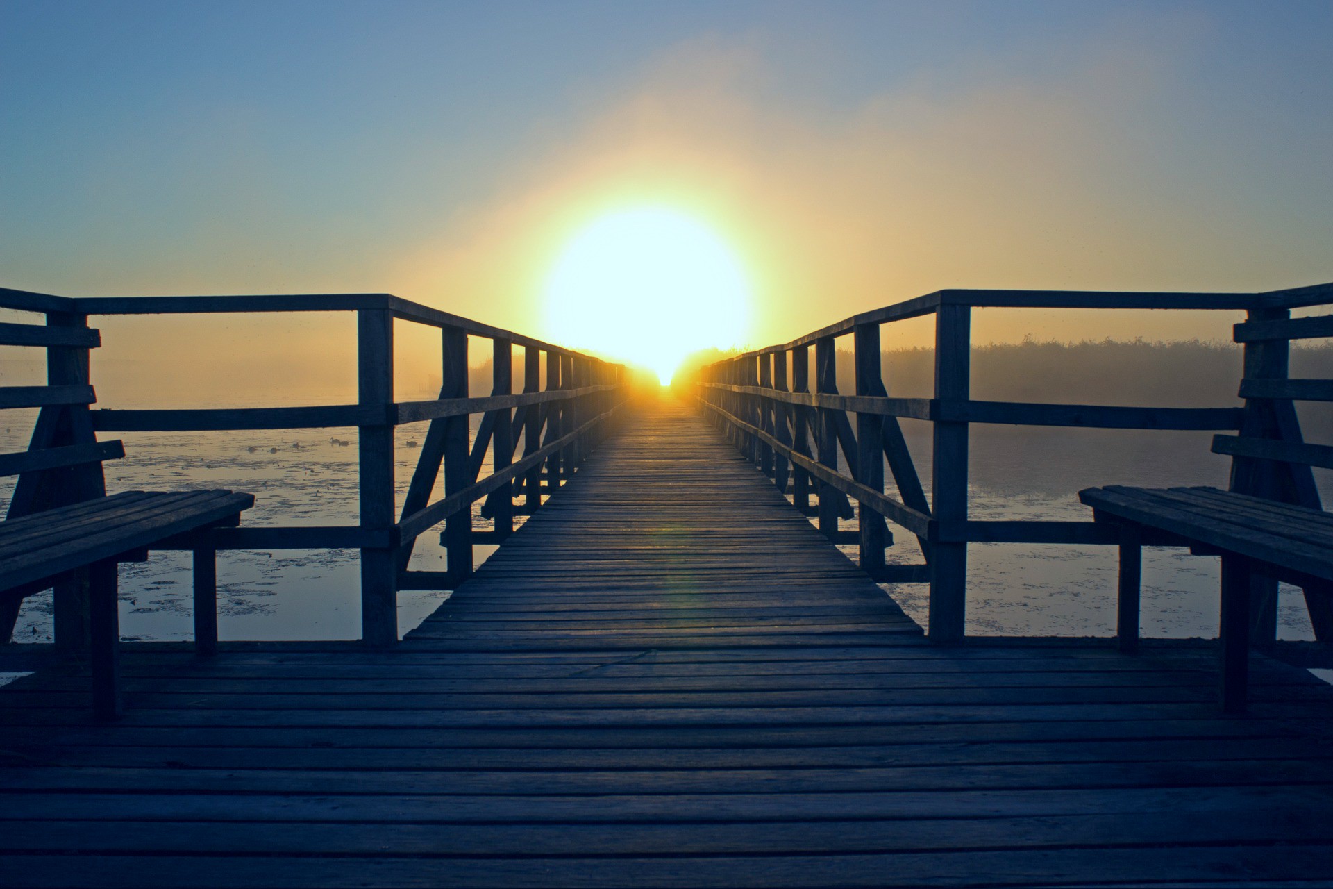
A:
{"label": "dark wooden railing along the left side of the boardwalk", "polygon": [[[37,408],[68,389],[83,399],[89,379],[88,349],[100,343],[89,316],[208,315],[256,312],[355,312],[357,317],[357,401],[296,408],[91,411],[95,432],[175,432],[219,429],[359,429],[356,525],[243,526],[219,529],[217,549],[360,549],[361,633],[371,645],[397,640],[397,590],[452,589],[472,573],[475,542],[504,541],[516,513],[531,513],[567,481],[605,435],[625,400],[625,368],[543,343],[512,331],[449,315],[384,293],[300,296],[61,297],[0,288],[0,308],[39,312],[59,337],[45,337],[48,387],[0,387],[0,408]],[[393,400],[393,321],[440,331],[443,387],[429,401]],[[0,324],[27,336],[20,325]],[[469,397],[468,337],[492,341],[493,393]],[[207,348],[204,341],[203,348]],[[523,392],[513,393],[513,348],[523,347]],[[545,365],[545,384],[541,368]],[[56,388],[59,387],[59,388]],[[52,395],[55,393],[55,395]],[[483,415],[471,436],[471,415]],[[429,421],[401,513],[395,505],[395,427]],[[41,423],[39,417],[39,424]],[[516,444],[523,439],[523,453]],[[481,477],[487,454],[493,472]],[[440,472],[444,497],[431,501]],[[36,472],[36,470],[35,470]],[[20,484],[23,484],[20,476]],[[515,506],[515,498],[520,498]],[[473,529],[472,505],[493,529]],[[408,570],[416,538],[444,522],[447,570]],[[187,548],[183,542],[181,548]],[[59,610],[59,609],[57,609]],[[59,633],[59,628],[57,628]]]}

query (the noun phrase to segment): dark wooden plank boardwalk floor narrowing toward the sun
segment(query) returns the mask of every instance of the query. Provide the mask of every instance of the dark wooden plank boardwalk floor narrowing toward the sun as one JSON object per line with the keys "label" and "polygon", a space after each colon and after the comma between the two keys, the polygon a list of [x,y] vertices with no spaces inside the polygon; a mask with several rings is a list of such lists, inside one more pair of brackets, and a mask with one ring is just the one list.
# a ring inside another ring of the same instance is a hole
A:
{"label": "dark wooden plank boardwalk floor narrowing toward the sun", "polygon": [[930,645],[673,403],[395,650],[125,670],[0,689],[0,885],[1333,885],[1326,685]]}

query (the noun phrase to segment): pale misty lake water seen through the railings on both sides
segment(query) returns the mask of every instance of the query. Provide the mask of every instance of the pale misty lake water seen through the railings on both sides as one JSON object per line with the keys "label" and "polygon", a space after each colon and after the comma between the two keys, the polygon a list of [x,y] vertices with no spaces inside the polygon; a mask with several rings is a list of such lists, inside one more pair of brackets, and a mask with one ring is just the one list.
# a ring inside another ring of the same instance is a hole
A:
{"label": "pale misty lake water seen through the railings on both sides", "polygon": [[[31,419],[15,413],[0,452],[25,446]],[[929,489],[929,431],[908,424],[917,470]],[[104,436],[111,437],[111,436]],[[356,429],[301,432],[119,433],[127,457],[107,462],[111,492],[211,486],[251,490],[247,525],[356,524]],[[401,508],[425,424],[397,431]],[[970,517],[1088,520],[1076,492],[1101,484],[1226,485],[1229,461],[1208,452],[1209,433],[1042,431],[977,427],[972,440]],[[488,472],[484,469],[483,472]],[[888,473],[886,473],[886,477]],[[1328,480],[1320,478],[1325,496]],[[443,485],[443,481],[440,482]],[[892,490],[893,485],[889,485]],[[437,492],[432,498],[443,496]],[[0,488],[8,498],[8,488]],[[480,505],[477,506],[480,508]],[[516,524],[523,517],[516,518]],[[844,525],[852,526],[852,525]],[[892,562],[920,561],[913,537],[896,529]],[[844,546],[854,558],[854,546]],[[480,564],[493,546],[477,546]],[[968,632],[972,634],[1109,636],[1116,620],[1116,548],[1030,544],[969,546]],[[360,636],[356,550],[219,553],[219,633],[224,640],[345,640]],[[412,569],[443,570],[437,532],[417,541]],[[1216,557],[1182,549],[1144,554],[1142,634],[1217,634]],[[926,586],[888,592],[925,622]],[[447,592],[399,594],[399,630],[433,612]],[[1282,588],[1280,634],[1313,638],[1300,590]],[[51,594],[24,602],[16,641],[51,640]],[[192,634],[188,553],[153,553],[121,566],[121,632],[137,640]]]}

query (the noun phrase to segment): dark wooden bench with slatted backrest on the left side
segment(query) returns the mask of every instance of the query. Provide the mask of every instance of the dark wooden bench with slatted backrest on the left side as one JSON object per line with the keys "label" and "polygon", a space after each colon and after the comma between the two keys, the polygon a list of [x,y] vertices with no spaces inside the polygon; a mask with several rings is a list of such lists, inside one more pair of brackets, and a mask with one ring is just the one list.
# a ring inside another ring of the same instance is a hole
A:
{"label": "dark wooden bench with slatted backrest on the left side", "polygon": [[40,408],[27,450],[0,454],[0,476],[17,476],[0,521],[0,642],[23,598],[55,589],[57,648],[87,652],[93,710],[120,714],[117,565],[149,549],[192,549],[195,644],[217,646],[216,550],[209,529],[235,525],[255,504],[231,490],[132,490],[108,497],[103,461],[124,456],[97,441],[88,405],[88,349],[100,344],[83,316],[48,315],[48,327],[0,324],[0,345],[48,349],[48,385],[0,387],[0,409]]}

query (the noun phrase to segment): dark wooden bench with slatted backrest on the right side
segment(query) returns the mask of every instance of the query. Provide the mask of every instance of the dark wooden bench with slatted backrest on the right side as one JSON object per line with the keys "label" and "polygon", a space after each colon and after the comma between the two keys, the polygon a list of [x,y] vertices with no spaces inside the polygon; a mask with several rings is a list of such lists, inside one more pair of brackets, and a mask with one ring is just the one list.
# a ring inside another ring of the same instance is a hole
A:
{"label": "dark wooden bench with slatted backrest on the right side", "polygon": [[1213,436],[1213,453],[1232,457],[1230,489],[1089,488],[1078,498],[1098,521],[1121,526],[1120,614],[1125,650],[1138,642],[1140,554],[1152,542],[1189,545],[1221,556],[1222,706],[1245,709],[1248,652],[1277,636],[1277,582],[1305,590],[1314,637],[1333,642],[1333,516],[1325,513],[1312,468],[1333,469],[1333,448],[1302,439],[1294,401],[1333,401],[1333,380],[1289,377],[1290,340],[1333,336],[1333,316],[1290,317],[1250,309],[1234,328],[1245,347],[1240,435]]}

